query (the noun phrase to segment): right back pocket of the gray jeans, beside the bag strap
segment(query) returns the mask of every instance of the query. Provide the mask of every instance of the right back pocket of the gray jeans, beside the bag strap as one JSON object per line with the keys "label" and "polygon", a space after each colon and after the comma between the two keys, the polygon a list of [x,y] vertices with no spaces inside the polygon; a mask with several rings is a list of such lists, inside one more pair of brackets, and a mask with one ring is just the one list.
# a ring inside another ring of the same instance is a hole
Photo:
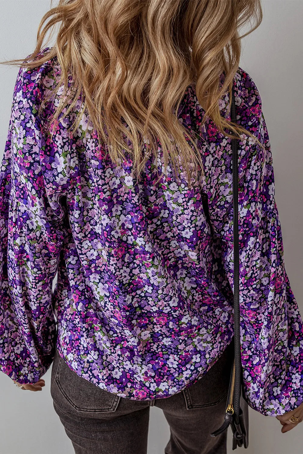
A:
{"label": "right back pocket of the gray jeans, beside the bag strap", "polygon": [[194,385],[189,385],[183,390],[188,410],[217,405],[221,400],[227,398],[233,366],[233,351],[234,344],[232,340],[206,374],[196,381]]}

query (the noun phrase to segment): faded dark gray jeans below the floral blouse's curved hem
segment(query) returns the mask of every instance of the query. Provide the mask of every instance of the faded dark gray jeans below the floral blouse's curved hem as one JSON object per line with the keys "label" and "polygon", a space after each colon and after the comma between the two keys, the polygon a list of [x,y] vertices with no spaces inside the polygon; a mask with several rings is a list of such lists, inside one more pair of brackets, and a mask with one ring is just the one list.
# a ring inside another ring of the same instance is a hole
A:
{"label": "faded dark gray jeans below the floral blouse's curved hem", "polygon": [[232,339],[194,385],[148,401],[102,390],[79,377],[56,350],[50,394],[75,454],[146,454],[151,406],[161,408],[169,423],[165,454],[226,454],[227,431],[217,437],[210,432],[224,421],[233,349]]}

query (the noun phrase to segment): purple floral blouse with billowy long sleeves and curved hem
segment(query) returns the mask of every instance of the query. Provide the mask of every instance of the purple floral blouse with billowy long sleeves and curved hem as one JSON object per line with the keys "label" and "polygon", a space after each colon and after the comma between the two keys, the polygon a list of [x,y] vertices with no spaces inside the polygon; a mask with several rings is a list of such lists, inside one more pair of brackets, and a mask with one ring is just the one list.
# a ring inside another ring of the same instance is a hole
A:
{"label": "purple floral blouse with billowy long sleeves and curved hem", "polygon": [[[21,68],[13,93],[0,166],[0,370],[33,383],[57,346],[101,389],[169,397],[199,380],[233,337],[231,140],[210,119],[200,127],[190,85],[179,121],[206,177],[189,190],[169,170],[156,185],[149,161],[135,182],[131,160],[115,172],[85,116],[66,132],[80,100],[53,139],[42,134],[61,89],[40,118],[37,110],[59,73],[55,59]],[[243,134],[238,147],[243,385],[253,409],[275,416],[303,400],[303,322],[284,267],[260,94],[240,67],[234,89],[238,123],[265,144],[264,153]],[[222,115],[227,105],[228,92]],[[160,143],[158,151],[161,171]]]}

